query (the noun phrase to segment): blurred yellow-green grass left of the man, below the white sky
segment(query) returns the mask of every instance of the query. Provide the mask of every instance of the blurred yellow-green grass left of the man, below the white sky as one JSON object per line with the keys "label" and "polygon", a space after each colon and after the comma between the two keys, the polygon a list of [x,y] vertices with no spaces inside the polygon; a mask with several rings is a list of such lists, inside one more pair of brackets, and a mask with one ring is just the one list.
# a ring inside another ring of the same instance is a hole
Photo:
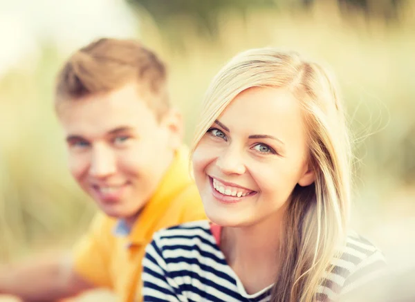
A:
{"label": "blurred yellow-green grass left of the man, below the white sky", "polygon": [[0,80],[0,263],[72,243],[94,208],[68,175],[53,112],[61,55],[49,43],[39,53],[30,69]]}

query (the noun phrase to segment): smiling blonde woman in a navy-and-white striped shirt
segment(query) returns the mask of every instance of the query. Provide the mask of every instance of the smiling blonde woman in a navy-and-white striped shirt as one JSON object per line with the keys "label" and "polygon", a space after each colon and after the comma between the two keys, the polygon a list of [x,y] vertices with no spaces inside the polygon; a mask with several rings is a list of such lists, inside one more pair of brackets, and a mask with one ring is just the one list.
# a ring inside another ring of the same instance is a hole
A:
{"label": "smiling blonde woman in a navy-and-white striped shirt", "polygon": [[382,253],[347,227],[351,150],[319,64],[272,48],[234,57],[205,95],[194,139],[210,221],[158,232],[144,301],[337,301]]}

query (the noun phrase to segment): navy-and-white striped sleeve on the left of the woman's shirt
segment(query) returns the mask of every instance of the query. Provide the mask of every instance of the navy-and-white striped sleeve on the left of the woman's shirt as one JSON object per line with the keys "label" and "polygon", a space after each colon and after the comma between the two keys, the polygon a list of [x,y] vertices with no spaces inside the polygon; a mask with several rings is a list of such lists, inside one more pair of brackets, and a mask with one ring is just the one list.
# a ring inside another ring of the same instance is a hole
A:
{"label": "navy-and-white striped sleeve on the left of the woman's shirt", "polygon": [[145,257],[142,260],[143,301],[187,302],[174,279],[169,277],[167,264],[156,242],[155,238],[147,245]]}

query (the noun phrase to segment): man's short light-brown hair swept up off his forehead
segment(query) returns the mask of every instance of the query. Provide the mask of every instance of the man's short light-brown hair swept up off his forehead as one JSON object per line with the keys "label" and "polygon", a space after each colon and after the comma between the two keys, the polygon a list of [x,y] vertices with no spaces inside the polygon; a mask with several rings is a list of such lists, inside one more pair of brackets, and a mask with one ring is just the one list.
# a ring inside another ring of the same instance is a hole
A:
{"label": "man's short light-brown hair swept up off his forehead", "polygon": [[138,41],[98,39],[73,53],[59,71],[55,104],[108,93],[133,81],[156,116],[163,115],[170,107],[163,62]]}

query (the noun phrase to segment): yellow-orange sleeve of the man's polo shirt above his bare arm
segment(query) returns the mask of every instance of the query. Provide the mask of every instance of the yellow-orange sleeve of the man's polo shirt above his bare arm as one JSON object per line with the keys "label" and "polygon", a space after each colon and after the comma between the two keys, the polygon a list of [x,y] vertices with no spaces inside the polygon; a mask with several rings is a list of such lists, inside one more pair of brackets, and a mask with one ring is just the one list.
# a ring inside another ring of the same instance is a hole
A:
{"label": "yellow-orange sleeve of the man's polo shirt above his bare arm", "polygon": [[111,288],[108,219],[103,214],[95,215],[89,231],[75,244],[73,261],[75,272],[84,279],[96,287]]}

